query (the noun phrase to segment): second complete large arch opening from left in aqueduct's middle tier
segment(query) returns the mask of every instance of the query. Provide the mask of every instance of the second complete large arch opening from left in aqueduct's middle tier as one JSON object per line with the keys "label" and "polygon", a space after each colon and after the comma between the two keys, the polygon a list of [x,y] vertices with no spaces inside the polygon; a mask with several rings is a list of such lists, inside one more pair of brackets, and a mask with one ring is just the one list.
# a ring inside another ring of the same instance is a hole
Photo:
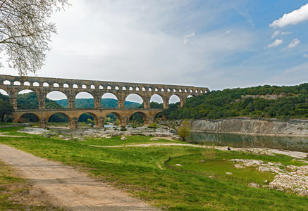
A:
{"label": "second complete large arch opening from left in aqueduct's middle tier", "polygon": [[68,98],[61,91],[51,91],[45,98],[46,108],[68,108]]}

